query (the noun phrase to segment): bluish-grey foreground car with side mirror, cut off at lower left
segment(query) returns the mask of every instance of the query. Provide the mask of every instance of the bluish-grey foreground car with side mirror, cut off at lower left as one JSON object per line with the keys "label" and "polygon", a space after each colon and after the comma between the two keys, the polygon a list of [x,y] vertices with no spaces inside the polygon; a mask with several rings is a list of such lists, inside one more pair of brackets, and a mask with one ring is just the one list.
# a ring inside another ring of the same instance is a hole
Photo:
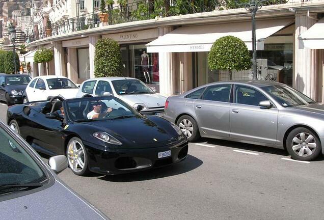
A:
{"label": "bluish-grey foreground car with side mirror, cut off at lower left", "polygon": [[78,196],[55,172],[68,166],[63,155],[45,165],[38,154],[0,121],[0,210],[2,219],[108,219]]}

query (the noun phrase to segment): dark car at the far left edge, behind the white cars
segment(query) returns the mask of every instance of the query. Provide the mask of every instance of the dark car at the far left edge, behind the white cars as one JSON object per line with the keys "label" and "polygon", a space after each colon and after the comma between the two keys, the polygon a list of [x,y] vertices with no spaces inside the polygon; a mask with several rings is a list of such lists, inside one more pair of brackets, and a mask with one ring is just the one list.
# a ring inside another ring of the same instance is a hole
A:
{"label": "dark car at the far left edge, behind the white cars", "polygon": [[7,105],[22,103],[26,86],[31,77],[25,74],[0,74],[0,100]]}

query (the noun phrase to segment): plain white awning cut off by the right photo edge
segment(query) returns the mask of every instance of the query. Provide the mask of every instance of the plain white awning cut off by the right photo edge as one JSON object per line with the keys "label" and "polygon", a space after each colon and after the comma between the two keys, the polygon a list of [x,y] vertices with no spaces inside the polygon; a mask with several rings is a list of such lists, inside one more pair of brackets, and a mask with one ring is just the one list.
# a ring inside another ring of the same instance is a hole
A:
{"label": "plain white awning cut off by the right photo edge", "polygon": [[310,29],[302,33],[299,39],[302,40],[304,48],[324,49],[324,18],[317,21]]}

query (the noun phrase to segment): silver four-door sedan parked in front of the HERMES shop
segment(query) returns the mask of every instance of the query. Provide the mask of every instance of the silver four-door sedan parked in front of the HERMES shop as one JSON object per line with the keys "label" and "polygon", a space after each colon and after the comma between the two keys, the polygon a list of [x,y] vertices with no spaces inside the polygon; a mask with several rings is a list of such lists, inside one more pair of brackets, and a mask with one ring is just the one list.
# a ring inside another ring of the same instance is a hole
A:
{"label": "silver four-door sedan parked in front of the HERMES shop", "polygon": [[324,104],[273,81],[222,81],[178,96],[165,116],[189,141],[211,137],[287,149],[293,159],[324,153]]}

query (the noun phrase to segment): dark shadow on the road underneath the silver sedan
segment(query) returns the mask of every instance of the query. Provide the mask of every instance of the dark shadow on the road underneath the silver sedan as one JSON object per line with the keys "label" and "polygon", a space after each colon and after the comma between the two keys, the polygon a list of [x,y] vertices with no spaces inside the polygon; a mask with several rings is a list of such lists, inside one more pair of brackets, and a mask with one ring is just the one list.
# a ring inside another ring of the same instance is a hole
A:
{"label": "dark shadow on the road underneath the silver sedan", "polygon": [[[218,145],[220,147],[249,150],[249,151],[255,151],[255,152],[260,152],[260,153],[276,154],[276,155],[284,156],[287,158],[291,158],[289,153],[286,150],[273,148],[273,147],[266,147],[266,146],[261,146],[261,145],[245,144],[245,143],[239,143],[239,142],[233,142],[233,141],[225,141],[225,140],[219,140],[219,139],[208,139],[208,138],[203,138],[199,142],[196,142],[196,143]],[[322,161],[323,159],[324,159],[323,155],[319,155],[316,159],[314,159],[312,161]]]}

